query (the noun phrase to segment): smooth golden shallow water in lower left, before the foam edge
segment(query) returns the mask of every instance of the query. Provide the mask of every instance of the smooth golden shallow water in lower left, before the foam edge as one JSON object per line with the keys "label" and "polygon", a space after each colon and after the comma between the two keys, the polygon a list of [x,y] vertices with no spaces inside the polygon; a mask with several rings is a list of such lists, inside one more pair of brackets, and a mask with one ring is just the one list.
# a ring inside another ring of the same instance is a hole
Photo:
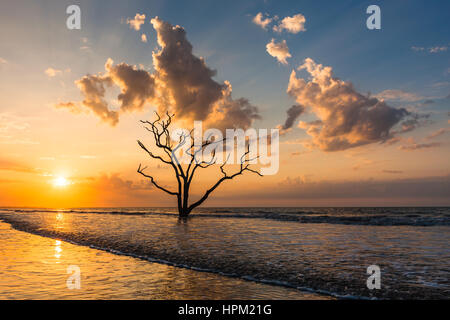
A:
{"label": "smooth golden shallow water in lower left, before the foam edge", "polygon": [[[3,222],[0,243],[0,299],[327,299],[77,246]],[[66,285],[70,265],[80,268],[80,289]]]}

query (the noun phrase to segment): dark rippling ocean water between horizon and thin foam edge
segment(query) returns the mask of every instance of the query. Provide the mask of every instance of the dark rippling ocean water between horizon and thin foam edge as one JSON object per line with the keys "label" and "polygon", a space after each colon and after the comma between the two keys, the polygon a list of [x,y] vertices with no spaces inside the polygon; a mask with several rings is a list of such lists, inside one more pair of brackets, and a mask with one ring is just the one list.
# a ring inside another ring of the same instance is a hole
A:
{"label": "dark rippling ocean water between horizon and thin foam edge", "polygon": [[[249,280],[324,297],[450,298],[450,208],[202,208],[187,220],[173,208],[4,208],[0,220],[142,263],[219,275],[224,286]],[[381,269],[380,289],[367,288],[370,265]]]}

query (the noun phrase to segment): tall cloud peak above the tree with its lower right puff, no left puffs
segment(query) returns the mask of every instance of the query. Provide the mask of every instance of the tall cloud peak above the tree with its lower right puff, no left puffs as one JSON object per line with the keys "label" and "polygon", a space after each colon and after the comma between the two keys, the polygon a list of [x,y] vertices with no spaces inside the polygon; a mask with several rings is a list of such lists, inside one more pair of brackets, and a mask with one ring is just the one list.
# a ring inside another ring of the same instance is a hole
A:
{"label": "tall cloud peak above the tree with its lower right puff, no left puffs", "polygon": [[158,17],[151,23],[161,47],[160,51],[153,52],[158,86],[155,103],[160,111],[170,110],[179,118],[205,120],[216,127],[226,123],[226,128],[247,128],[259,118],[257,108],[247,99],[232,98],[228,81],[221,84],[213,79],[216,71],[192,53],[192,45],[182,27],[172,26]]}

